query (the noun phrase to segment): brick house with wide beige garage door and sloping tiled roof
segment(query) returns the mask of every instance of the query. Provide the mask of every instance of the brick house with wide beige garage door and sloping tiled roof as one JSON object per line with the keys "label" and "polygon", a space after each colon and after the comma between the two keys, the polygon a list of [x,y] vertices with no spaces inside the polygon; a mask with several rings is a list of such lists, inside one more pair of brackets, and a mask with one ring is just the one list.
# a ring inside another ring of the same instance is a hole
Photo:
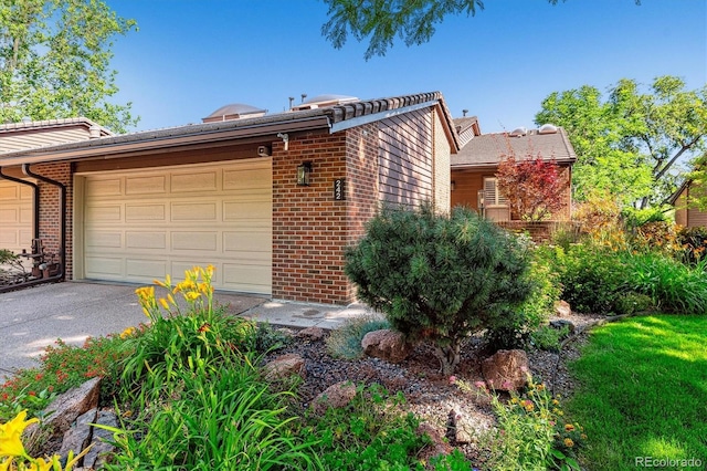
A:
{"label": "brick house with wide beige garage door and sloping tiled roof", "polygon": [[450,208],[458,135],[439,92],[203,121],[14,149],[0,170],[39,187],[33,238],[66,279],[151,283],[213,264],[217,289],[320,303],[354,300],[344,250],[381,201]]}

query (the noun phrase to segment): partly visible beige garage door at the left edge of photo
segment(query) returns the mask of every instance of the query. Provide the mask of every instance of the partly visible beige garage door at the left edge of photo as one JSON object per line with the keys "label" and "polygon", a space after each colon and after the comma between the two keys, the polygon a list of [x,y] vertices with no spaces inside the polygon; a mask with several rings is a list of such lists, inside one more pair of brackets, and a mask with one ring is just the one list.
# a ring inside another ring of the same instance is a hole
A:
{"label": "partly visible beige garage door at the left edge of photo", "polygon": [[0,249],[32,249],[32,188],[0,179]]}

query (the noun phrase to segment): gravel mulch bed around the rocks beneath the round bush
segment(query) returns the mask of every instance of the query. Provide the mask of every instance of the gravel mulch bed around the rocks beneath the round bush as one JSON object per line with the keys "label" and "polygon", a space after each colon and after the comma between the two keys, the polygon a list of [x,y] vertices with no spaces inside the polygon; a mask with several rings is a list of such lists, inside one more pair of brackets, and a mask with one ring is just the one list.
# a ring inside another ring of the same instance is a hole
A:
{"label": "gravel mulch bed around the rocks beneath the round bush", "polygon": [[[578,315],[562,317],[576,326],[576,334],[566,341],[560,353],[532,350],[528,353],[530,370],[552,391],[569,396],[574,383],[567,369],[568,363],[579,357],[581,346],[587,342],[587,331],[605,317]],[[326,337],[325,337],[326,339]],[[450,378],[440,374],[439,360],[432,349],[419,345],[404,362],[393,365],[378,358],[365,357],[345,360],[331,357],[326,342],[297,338],[292,345],[272,354],[272,359],[283,354],[297,354],[305,359],[305,378],[299,387],[299,401],[306,408],[327,387],[344,380],[384,386],[391,394],[401,391],[407,399],[407,410],[432,426],[441,436],[450,437],[447,420],[452,410],[464,417],[467,427],[481,432],[494,426],[494,416],[486,396],[464,393]],[[472,339],[462,350],[462,362],[456,378],[473,385],[483,380],[481,362],[488,356],[478,339]],[[472,431],[472,435],[474,433]],[[477,456],[473,444],[457,446],[467,457]]]}

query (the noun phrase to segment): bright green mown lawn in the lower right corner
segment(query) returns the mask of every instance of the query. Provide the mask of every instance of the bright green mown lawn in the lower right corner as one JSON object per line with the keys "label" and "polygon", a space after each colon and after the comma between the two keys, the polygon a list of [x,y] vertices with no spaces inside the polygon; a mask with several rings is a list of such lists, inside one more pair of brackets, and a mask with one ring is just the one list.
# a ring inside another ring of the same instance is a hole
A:
{"label": "bright green mown lawn in the lower right corner", "polygon": [[[707,468],[706,316],[633,317],[595,328],[572,370],[581,386],[567,410],[588,435],[587,469],[643,468],[639,457],[651,457],[654,469]],[[690,468],[695,460],[701,465]]]}

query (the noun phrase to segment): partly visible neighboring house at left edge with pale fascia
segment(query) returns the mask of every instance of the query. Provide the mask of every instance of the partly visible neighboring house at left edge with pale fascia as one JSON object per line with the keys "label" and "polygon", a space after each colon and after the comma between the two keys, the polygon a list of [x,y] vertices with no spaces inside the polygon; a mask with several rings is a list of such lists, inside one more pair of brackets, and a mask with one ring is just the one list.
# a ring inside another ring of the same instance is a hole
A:
{"label": "partly visible neighboring house at left edge with pale fascia", "polygon": [[[41,146],[87,140],[112,133],[84,117],[70,119],[25,121],[0,125],[0,161],[2,155]],[[0,249],[21,252],[29,250],[36,238],[33,228],[34,187],[27,181],[19,167],[0,168]]]}

